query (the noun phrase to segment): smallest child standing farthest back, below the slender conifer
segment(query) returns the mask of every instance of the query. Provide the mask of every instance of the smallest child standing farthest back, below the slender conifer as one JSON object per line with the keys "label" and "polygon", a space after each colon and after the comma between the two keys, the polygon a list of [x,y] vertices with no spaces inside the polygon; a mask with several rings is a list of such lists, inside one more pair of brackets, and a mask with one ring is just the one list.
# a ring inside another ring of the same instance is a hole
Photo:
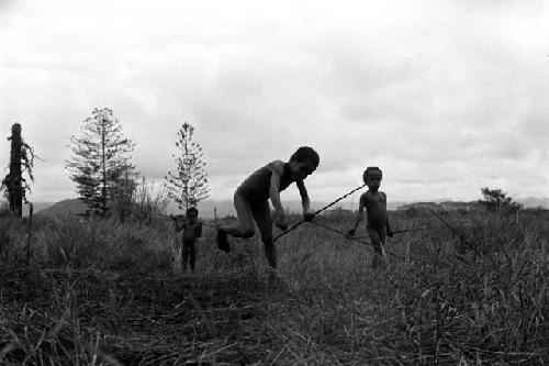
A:
{"label": "smallest child standing farthest back, below the slender conifer", "polygon": [[197,237],[202,236],[202,224],[198,221],[199,210],[194,207],[187,209],[187,218],[179,215],[172,217],[176,221],[176,231],[183,230],[181,269],[187,271],[187,263],[190,262],[191,270],[194,271],[194,262],[197,259],[197,248],[194,246]]}

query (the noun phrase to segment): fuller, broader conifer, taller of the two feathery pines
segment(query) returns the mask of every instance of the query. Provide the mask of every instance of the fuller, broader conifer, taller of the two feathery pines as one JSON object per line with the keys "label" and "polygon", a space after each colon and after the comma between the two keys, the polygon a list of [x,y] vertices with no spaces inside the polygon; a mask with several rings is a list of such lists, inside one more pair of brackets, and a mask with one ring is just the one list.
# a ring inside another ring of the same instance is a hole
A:
{"label": "fuller, broader conifer, taller of the two feathery pines", "polygon": [[[80,136],[70,137],[72,155],[66,166],[88,214],[104,217],[120,195],[132,195],[127,187],[135,177],[130,153],[135,144],[123,138],[119,119],[112,109],[94,109],[80,127]],[[132,187],[135,187],[132,185]]]}

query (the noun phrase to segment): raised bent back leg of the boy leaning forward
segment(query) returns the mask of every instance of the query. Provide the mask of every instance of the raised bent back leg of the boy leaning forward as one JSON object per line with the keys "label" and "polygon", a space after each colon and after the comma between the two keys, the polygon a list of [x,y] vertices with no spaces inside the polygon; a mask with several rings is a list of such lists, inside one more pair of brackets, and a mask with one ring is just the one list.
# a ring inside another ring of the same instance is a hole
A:
{"label": "raised bent back leg of the boy leaning forward", "polygon": [[217,228],[217,247],[222,251],[228,252],[227,234],[236,237],[251,237],[254,236],[254,219],[251,215],[251,208],[246,197],[238,191],[235,192],[234,203],[238,221],[227,225],[220,225]]}

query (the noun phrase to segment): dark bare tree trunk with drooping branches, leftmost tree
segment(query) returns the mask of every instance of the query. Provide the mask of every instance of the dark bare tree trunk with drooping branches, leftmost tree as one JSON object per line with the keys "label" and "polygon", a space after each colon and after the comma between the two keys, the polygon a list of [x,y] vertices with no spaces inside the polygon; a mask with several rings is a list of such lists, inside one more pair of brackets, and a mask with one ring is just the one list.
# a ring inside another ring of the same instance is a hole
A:
{"label": "dark bare tree trunk with drooping branches, leftmost tree", "polygon": [[29,178],[34,180],[32,171],[34,151],[21,137],[21,124],[19,123],[13,123],[11,136],[8,140],[11,141],[10,173],[2,180],[1,188],[5,187],[10,211],[21,218],[23,201],[26,202],[26,191],[31,190],[26,179],[23,178],[23,171],[26,171]]}

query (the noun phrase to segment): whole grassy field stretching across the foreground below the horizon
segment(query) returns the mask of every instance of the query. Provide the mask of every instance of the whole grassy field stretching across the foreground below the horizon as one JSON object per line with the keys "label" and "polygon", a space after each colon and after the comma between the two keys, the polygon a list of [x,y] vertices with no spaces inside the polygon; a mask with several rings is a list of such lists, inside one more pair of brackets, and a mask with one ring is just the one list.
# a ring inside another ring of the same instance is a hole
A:
{"label": "whole grassy field stretching across the foreground below the horizon", "polygon": [[227,255],[211,226],[198,270],[176,275],[160,219],[35,220],[27,267],[27,223],[0,219],[0,364],[549,364],[548,212],[439,214],[451,229],[392,212],[428,229],[390,239],[378,270],[367,244],[302,225],[277,243],[278,276],[258,239]]}

